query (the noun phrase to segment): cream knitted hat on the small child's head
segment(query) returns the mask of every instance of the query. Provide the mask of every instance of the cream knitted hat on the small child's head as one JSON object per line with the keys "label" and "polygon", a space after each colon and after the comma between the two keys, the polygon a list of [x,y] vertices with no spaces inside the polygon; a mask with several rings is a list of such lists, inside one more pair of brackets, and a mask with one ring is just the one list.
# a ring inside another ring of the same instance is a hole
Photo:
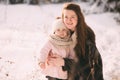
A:
{"label": "cream knitted hat on the small child's head", "polygon": [[67,29],[67,27],[63,23],[62,19],[58,19],[53,22],[52,33],[54,33],[57,29],[66,29],[67,32],[70,33],[70,31]]}

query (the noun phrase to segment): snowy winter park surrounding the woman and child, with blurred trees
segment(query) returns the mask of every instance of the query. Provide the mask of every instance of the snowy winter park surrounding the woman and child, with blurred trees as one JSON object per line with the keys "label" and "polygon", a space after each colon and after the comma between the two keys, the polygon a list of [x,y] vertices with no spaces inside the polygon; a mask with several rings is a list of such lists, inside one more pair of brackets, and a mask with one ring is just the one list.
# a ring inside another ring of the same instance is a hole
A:
{"label": "snowy winter park surrounding the woman and child, with blurred trees", "polygon": [[65,2],[79,4],[94,30],[104,80],[120,80],[119,0],[0,0],[0,80],[47,80],[39,51]]}

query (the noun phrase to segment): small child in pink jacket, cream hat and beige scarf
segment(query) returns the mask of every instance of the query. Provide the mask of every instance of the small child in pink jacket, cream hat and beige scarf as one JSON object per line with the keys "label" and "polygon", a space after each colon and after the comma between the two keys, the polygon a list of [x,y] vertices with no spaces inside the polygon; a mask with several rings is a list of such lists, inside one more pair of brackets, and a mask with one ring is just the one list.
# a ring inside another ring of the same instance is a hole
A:
{"label": "small child in pink jacket, cream hat and beige scarf", "polygon": [[53,66],[47,63],[50,51],[53,53],[60,53],[59,56],[63,58],[72,58],[73,55],[70,50],[72,39],[70,38],[70,31],[66,28],[61,19],[53,23],[53,32],[50,35],[47,43],[40,51],[40,68],[42,73],[47,76],[48,80],[67,80],[67,71],[62,70],[62,66]]}

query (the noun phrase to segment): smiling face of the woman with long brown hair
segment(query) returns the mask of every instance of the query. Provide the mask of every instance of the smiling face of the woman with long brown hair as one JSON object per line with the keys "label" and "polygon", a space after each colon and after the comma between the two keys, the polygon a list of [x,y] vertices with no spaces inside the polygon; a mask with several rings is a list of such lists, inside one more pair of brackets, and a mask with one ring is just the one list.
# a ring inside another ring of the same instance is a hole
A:
{"label": "smiling face of the woman with long brown hair", "polygon": [[73,10],[63,11],[63,21],[68,29],[75,31],[76,25],[78,23],[78,18]]}

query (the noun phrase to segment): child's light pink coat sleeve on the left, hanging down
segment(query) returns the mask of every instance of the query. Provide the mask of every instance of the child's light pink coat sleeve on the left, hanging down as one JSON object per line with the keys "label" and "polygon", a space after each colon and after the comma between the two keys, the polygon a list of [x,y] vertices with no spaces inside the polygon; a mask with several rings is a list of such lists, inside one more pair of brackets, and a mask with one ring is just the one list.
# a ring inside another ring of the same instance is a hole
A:
{"label": "child's light pink coat sleeve on the left, hanging down", "polygon": [[47,41],[40,50],[40,56],[39,56],[40,62],[45,62],[48,53],[51,49],[52,49],[52,44],[49,41]]}

